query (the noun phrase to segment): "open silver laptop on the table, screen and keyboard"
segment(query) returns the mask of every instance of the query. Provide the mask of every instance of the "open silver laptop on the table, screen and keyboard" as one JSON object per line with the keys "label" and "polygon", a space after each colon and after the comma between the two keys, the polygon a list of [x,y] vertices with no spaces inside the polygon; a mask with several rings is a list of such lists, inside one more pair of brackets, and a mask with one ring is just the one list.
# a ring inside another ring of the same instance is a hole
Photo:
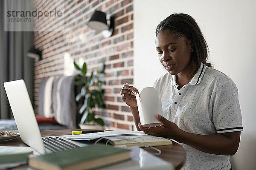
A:
{"label": "open silver laptop on the table, screen and keyboard", "polygon": [[62,136],[42,137],[23,79],[3,83],[21,140],[40,154],[84,147],[87,144]]}

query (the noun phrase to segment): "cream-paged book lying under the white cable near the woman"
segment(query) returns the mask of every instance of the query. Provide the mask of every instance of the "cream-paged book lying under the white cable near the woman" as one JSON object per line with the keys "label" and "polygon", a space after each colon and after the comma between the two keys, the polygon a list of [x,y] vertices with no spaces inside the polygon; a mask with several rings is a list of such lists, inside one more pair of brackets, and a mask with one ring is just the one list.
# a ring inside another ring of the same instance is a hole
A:
{"label": "cream-paged book lying under the white cable near the woman", "polygon": [[[107,141],[106,141],[107,140]],[[131,146],[162,146],[171,145],[172,141],[163,137],[143,135],[143,136],[110,136],[105,137],[105,142],[112,144],[113,146],[125,145],[127,147]]]}

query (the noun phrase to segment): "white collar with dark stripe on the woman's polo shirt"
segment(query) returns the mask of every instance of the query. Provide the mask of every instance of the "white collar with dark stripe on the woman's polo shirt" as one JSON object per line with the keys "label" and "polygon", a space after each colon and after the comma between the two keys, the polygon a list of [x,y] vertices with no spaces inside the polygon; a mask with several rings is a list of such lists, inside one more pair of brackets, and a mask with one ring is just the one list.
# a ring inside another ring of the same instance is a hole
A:
{"label": "white collar with dark stripe on the woman's polo shirt", "polygon": [[[196,72],[195,76],[186,85],[197,85],[197,84],[199,84],[201,82],[202,77],[204,76],[205,69],[206,69],[206,65],[201,63],[201,65],[200,65],[198,71]],[[172,76],[172,83],[171,84],[172,84],[172,86],[177,85],[176,75]]]}

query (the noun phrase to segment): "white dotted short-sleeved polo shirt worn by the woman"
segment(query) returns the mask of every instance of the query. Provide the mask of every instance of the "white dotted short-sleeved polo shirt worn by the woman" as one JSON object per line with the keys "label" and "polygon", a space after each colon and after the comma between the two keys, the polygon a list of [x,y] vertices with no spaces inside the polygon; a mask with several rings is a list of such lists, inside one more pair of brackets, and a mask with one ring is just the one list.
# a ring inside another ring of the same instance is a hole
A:
{"label": "white dotted short-sleeved polo shirt worn by the woman", "polygon": [[[201,64],[180,90],[175,75],[154,83],[162,99],[163,116],[190,133],[215,135],[242,131],[242,117],[235,83],[225,74]],[[220,141],[221,142],[221,141]],[[204,153],[180,143],[186,150],[182,170],[230,170],[230,156]]]}

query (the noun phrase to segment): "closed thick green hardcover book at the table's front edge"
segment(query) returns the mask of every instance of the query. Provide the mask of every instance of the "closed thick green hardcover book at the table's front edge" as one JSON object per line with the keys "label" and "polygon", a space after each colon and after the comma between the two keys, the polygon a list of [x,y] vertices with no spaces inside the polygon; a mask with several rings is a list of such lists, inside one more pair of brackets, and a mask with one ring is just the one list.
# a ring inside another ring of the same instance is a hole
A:
{"label": "closed thick green hardcover book at the table's front edge", "polygon": [[130,158],[130,150],[93,144],[29,157],[29,166],[39,170],[89,170]]}

